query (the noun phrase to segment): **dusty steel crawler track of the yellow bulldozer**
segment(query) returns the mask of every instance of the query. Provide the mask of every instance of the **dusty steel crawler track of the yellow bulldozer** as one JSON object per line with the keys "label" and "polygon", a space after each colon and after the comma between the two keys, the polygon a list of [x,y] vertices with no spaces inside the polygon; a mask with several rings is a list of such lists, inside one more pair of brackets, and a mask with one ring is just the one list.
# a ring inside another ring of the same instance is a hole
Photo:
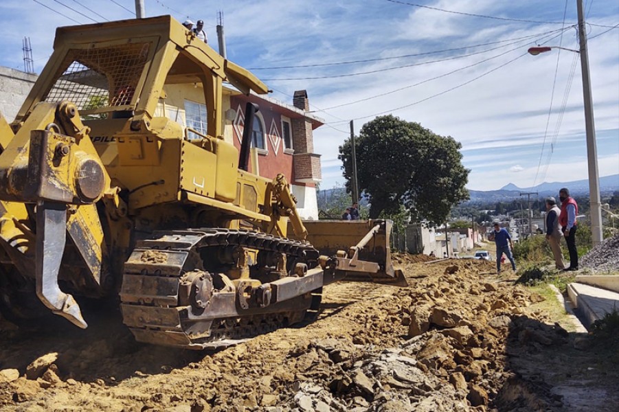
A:
{"label": "dusty steel crawler track of the yellow bulldozer", "polygon": [[239,246],[285,253],[288,260],[316,266],[310,244],[235,229],[157,231],[139,240],[124,264],[120,293],[123,322],[144,343],[218,350],[258,334],[317,317],[322,288],[267,308],[240,308],[236,291],[215,290],[203,312],[183,302],[191,279],[210,279],[199,251]]}

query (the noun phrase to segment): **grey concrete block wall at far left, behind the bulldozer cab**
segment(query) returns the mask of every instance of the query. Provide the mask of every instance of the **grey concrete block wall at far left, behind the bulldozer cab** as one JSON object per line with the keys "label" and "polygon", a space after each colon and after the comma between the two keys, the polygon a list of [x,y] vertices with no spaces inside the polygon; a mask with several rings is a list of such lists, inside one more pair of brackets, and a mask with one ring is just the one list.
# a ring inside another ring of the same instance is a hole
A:
{"label": "grey concrete block wall at far left, behind the bulldozer cab", "polygon": [[0,113],[12,122],[36,81],[36,74],[0,66]]}

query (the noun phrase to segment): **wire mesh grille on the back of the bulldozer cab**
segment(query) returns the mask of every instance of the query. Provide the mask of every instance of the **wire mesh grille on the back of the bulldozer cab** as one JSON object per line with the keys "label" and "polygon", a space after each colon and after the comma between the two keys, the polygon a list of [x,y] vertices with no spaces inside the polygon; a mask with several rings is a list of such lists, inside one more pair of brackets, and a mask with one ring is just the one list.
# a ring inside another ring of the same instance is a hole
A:
{"label": "wire mesh grille on the back of the bulldozer cab", "polygon": [[78,110],[131,104],[150,43],[73,49],[46,102],[69,100]]}

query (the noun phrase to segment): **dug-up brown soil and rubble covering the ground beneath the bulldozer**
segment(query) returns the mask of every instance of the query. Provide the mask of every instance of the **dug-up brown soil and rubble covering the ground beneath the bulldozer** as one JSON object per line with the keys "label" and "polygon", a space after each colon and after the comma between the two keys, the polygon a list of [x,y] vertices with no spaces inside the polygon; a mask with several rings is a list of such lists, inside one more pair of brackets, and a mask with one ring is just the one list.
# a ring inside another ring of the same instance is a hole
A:
{"label": "dug-up brown soil and rubble covering the ground beneath the bulldozer", "polygon": [[494,279],[485,261],[395,260],[411,286],[327,286],[317,321],[214,353],[135,343],[108,307],[85,309],[87,330],[62,319],[43,330],[3,322],[0,409],[611,411],[618,404],[617,368],[596,373],[594,346],[538,310],[541,295]]}

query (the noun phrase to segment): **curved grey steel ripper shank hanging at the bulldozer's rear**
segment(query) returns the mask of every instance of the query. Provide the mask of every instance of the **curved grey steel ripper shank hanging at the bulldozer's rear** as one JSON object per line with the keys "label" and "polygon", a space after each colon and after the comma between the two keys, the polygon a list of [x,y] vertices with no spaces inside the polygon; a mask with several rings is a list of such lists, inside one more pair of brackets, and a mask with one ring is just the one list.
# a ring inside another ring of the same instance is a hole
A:
{"label": "curved grey steel ripper shank hanging at the bulldozer's rear", "polygon": [[39,202],[36,205],[36,295],[47,308],[80,328],[87,328],[80,306],[58,286],[58,271],[67,240],[67,206]]}

